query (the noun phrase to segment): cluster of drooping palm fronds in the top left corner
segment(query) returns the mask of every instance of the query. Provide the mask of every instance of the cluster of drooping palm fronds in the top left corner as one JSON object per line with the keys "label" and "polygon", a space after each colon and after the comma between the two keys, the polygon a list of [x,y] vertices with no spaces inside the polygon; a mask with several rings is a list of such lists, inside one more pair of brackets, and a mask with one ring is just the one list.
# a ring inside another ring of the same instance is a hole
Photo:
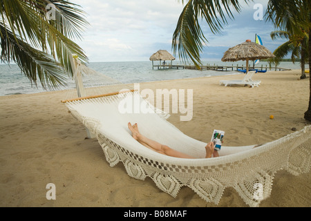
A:
{"label": "cluster of drooping palm fronds in the top left corner", "polygon": [[[55,20],[46,17],[53,3]],[[74,39],[81,39],[88,22],[69,1],[0,0],[1,61],[15,61],[30,81],[44,88],[64,84],[72,75],[69,58],[88,59]],[[40,49],[40,50],[39,50]]]}

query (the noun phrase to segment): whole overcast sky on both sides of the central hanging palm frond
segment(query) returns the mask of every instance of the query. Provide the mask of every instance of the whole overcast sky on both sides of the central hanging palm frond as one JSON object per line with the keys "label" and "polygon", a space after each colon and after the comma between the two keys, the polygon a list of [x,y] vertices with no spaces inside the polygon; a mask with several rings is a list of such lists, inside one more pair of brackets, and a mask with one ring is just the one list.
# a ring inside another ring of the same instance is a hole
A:
{"label": "whole overcast sky on both sides of the central hanging palm frond", "polygon": [[[229,47],[246,39],[254,41],[255,34],[263,40],[264,46],[272,52],[283,41],[272,41],[271,23],[255,20],[261,3],[263,13],[268,0],[254,0],[247,6],[241,1],[243,10],[234,13],[235,20],[229,20],[220,35],[213,35],[204,26],[209,41],[202,53],[203,60],[220,60]],[[82,41],[77,41],[90,62],[97,61],[149,61],[157,50],[171,53],[171,40],[180,13],[182,2],[178,0],[73,0],[86,12],[90,26],[86,28]]]}

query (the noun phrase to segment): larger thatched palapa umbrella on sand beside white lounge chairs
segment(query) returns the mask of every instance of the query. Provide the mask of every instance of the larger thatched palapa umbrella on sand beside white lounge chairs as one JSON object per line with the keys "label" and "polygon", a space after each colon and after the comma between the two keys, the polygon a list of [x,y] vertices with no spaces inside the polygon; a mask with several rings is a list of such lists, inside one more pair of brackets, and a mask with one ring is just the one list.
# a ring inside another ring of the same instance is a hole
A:
{"label": "larger thatched palapa umbrella on sand beside white lounge chairs", "polygon": [[275,57],[270,50],[260,44],[256,44],[251,40],[246,40],[242,44],[238,44],[232,48],[229,48],[221,61],[245,61],[246,60],[246,73],[248,72],[249,60],[254,61],[256,59],[267,59]]}

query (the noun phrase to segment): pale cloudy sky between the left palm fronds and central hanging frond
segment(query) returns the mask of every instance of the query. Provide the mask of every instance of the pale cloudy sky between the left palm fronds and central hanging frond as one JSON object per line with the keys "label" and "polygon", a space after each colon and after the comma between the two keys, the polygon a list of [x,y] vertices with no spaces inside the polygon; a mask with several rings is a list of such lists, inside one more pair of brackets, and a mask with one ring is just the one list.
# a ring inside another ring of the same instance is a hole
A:
{"label": "pale cloudy sky between the left palm fronds and central hanging frond", "polygon": [[160,49],[155,48],[156,44],[169,45],[164,49],[170,50],[173,30],[182,11],[182,3],[167,0],[76,0],[75,3],[82,6],[91,24],[83,34],[84,39],[77,42],[90,61],[106,61],[99,60],[103,57],[98,57],[99,51],[109,54],[109,61],[124,61],[146,54],[150,57]]}

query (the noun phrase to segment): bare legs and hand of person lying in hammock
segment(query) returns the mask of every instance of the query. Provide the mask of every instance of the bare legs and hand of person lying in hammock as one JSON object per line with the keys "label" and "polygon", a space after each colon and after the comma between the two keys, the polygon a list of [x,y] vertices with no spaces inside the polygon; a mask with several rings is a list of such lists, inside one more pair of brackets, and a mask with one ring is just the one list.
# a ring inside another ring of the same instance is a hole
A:
{"label": "bare legs and hand of person lying in hammock", "polygon": [[[168,155],[171,157],[179,157],[179,158],[187,158],[187,159],[195,159],[195,157],[191,157],[190,155],[187,155],[185,153],[181,153],[179,151],[173,150],[172,148],[170,148],[169,146],[160,144],[154,140],[151,140],[147,137],[145,137],[144,135],[142,135],[140,133],[140,131],[138,131],[138,125],[137,124],[131,124],[129,122],[128,124],[129,126],[129,130],[132,132],[132,136],[135,140],[137,140],[138,142],[140,142],[140,144],[146,146],[147,148],[156,151],[158,153],[162,153],[164,155]],[[218,151],[214,150],[214,143],[213,142],[209,142],[207,144],[207,146],[205,146],[205,150],[206,150],[206,155],[205,158],[210,158],[210,157],[218,157]]]}

